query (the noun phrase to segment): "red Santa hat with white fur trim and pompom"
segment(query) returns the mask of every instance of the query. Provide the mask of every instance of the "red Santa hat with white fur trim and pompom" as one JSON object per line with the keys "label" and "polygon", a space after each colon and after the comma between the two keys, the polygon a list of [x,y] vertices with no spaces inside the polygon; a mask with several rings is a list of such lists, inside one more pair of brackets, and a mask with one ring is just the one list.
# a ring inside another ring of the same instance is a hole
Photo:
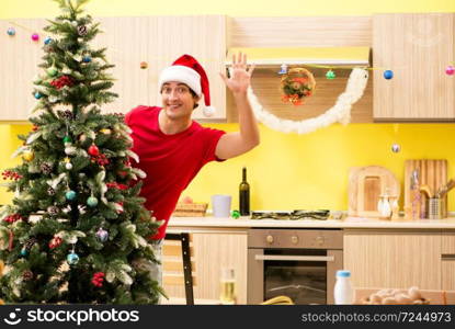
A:
{"label": "red Santa hat with white fur trim and pompom", "polygon": [[211,91],[207,75],[193,56],[183,55],[172,63],[172,66],[163,69],[158,82],[159,89],[161,90],[166,82],[171,81],[185,83],[200,98],[204,95],[204,114],[213,114],[215,109],[211,106]]}

